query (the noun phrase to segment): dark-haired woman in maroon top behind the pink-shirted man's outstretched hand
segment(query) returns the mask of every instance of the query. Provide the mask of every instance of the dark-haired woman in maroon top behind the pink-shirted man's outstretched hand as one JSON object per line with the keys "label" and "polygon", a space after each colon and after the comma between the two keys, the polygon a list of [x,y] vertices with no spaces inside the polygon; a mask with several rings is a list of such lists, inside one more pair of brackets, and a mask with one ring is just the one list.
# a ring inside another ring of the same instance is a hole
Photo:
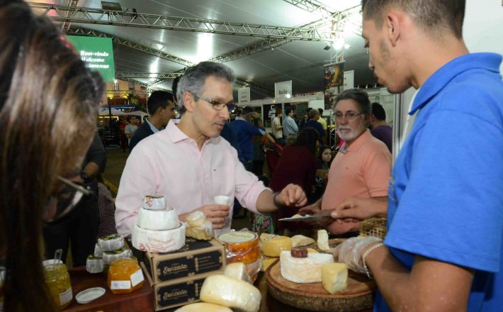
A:
{"label": "dark-haired woman in maroon top behind the pink-shirted man's outstretched hand", "polygon": [[[283,149],[276,171],[273,172],[269,187],[273,191],[283,189],[290,183],[300,185],[305,194],[311,194],[312,184],[316,175],[316,153],[319,135],[313,128],[305,128],[300,131],[297,142],[294,145],[286,145]],[[298,209],[280,209],[277,213],[279,218],[288,218],[297,213]],[[278,230],[287,228],[283,222],[278,222]],[[288,226],[288,228],[290,228]]]}

